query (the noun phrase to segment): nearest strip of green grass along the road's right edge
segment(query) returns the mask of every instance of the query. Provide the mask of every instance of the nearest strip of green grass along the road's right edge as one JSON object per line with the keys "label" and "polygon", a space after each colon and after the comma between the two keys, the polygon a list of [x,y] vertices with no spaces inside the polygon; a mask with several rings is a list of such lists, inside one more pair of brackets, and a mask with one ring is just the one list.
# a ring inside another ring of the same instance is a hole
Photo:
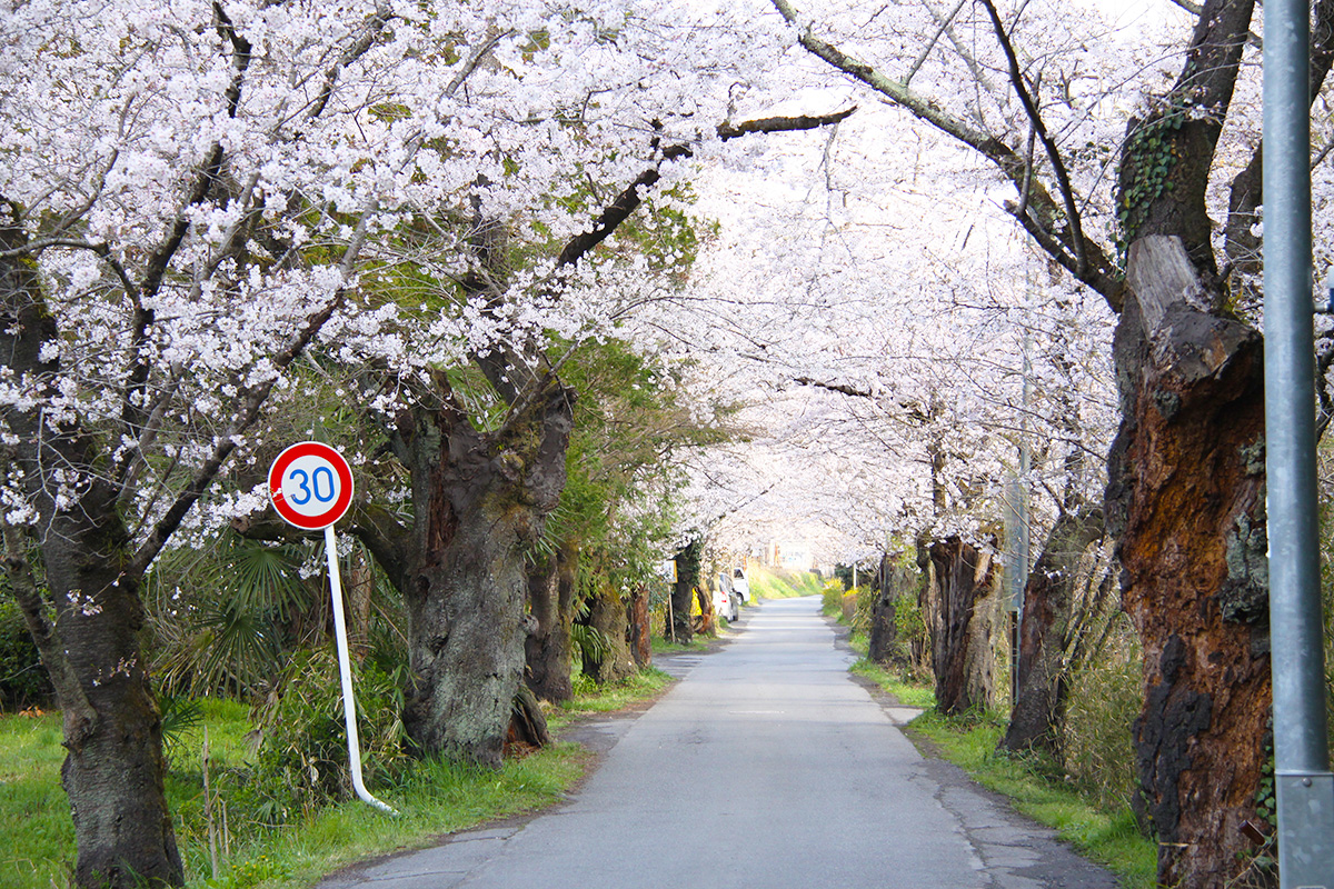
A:
{"label": "nearest strip of green grass along the road's right edge", "polygon": [[1125,889],[1157,885],[1157,846],[1139,833],[1129,806],[1099,810],[1065,784],[1050,764],[998,753],[996,742],[1005,733],[1003,716],[950,720],[928,710],[908,728],[979,784],[1010,797],[1015,809],[1054,828],[1062,840],[1114,872]]}

